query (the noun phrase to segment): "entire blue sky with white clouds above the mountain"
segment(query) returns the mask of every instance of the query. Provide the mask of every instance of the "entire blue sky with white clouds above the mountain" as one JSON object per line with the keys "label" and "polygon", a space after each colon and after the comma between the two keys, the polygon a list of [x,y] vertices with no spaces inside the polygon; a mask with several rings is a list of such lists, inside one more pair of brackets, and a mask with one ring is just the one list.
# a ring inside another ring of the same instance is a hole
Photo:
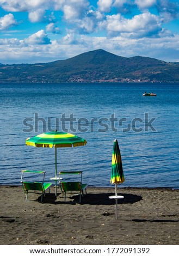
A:
{"label": "entire blue sky with white clouds above the mountain", "polygon": [[179,62],[179,0],[0,0],[0,63],[43,63],[102,48]]}

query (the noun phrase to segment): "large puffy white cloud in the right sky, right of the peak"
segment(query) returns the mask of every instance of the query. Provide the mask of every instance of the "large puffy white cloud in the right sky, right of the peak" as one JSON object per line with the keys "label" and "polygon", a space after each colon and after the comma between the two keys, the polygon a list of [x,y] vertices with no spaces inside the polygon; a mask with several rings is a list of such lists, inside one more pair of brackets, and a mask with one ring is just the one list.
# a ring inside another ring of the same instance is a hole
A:
{"label": "large puffy white cloud in the right sky, right of the peak", "polygon": [[159,17],[150,13],[135,15],[132,19],[125,19],[120,14],[108,15],[100,26],[106,28],[111,36],[125,33],[127,37],[156,35],[162,29]]}

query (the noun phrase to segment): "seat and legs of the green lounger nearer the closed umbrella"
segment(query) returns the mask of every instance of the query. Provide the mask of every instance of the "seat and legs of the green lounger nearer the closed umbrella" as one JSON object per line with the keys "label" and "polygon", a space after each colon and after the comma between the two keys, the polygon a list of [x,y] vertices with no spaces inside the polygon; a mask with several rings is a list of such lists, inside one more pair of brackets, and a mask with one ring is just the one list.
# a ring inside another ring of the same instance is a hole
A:
{"label": "seat and legs of the green lounger nearer the closed umbrella", "polygon": [[60,188],[61,192],[65,193],[65,202],[66,202],[66,193],[77,194],[79,193],[79,203],[81,203],[81,196],[84,196],[84,191],[87,194],[88,184],[82,184],[78,181],[61,181]]}

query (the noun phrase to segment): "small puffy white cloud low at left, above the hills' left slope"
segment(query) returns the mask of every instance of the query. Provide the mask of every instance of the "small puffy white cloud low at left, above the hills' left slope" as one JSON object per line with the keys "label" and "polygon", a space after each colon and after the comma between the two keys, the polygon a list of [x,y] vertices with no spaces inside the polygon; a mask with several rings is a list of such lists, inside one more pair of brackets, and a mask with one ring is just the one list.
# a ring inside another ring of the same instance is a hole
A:
{"label": "small puffy white cloud low at left, above the hills' left slope", "polygon": [[25,44],[28,45],[46,45],[51,44],[50,39],[47,37],[47,34],[43,29],[41,31],[38,31],[32,35],[30,35],[28,38],[23,40]]}

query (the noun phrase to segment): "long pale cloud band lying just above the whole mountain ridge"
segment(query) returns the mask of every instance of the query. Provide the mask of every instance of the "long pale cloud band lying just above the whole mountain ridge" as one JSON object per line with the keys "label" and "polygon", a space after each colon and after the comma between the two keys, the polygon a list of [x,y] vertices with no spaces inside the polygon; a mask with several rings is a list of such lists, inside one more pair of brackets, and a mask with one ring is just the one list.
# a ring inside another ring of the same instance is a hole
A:
{"label": "long pale cloud band lying just above the whole mountain ridge", "polygon": [[[42,33],[43,34],[43,33]],[[26,39],[27,40],[27,39]],[[2,63],[42,63],[58,59],[66,59],[77,54],[103,48],[119,56],[145,56],[153,57],[169,62],[178,61],[179,35],[163,36],[163,38],[124,38],[116,36],[89,37],[77,36],[73,31],[67,31],[66,36],[60,40],[53,40],[52,44],[24,43],[18,39],[1,39],[1,62]]]}

